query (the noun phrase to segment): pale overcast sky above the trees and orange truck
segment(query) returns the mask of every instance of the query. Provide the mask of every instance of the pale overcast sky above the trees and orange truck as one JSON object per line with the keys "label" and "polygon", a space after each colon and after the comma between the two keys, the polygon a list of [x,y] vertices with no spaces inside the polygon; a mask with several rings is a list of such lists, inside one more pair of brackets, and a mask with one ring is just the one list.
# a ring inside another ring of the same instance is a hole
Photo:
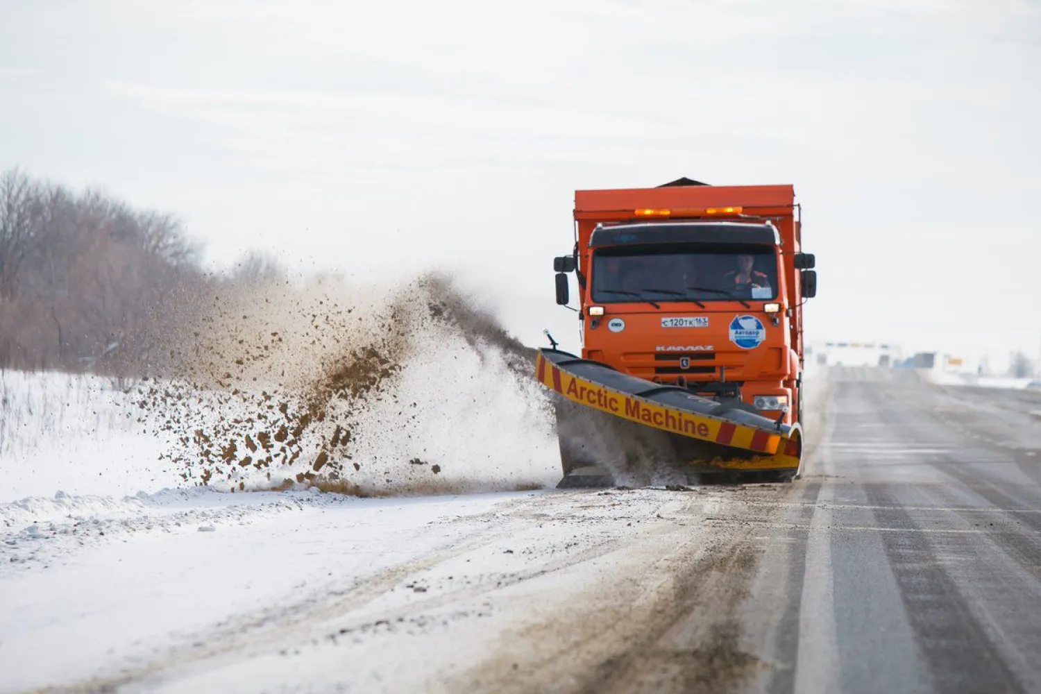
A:
{"label": "pale overcast sky above the trees and orange truck", "polygon": [[459,267],[529,343],[576,188],[791,183],[811,337],[1038,352],[1037,0],[503,4],[0,0],[0,169],[217,264]]}

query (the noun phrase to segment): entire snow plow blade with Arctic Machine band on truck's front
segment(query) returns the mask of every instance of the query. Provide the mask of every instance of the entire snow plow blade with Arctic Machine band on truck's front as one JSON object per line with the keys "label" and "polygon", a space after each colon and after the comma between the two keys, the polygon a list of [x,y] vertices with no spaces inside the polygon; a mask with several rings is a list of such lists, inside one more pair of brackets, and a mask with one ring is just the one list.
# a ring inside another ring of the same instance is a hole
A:
{"label": "entire snow plow blade with Arctic Machine band on truck's front", "polygon": [[539,350],[535,370],[559,395],[559,488],[777,481],[798,473],[798,425],[778,425],[558,350]]}

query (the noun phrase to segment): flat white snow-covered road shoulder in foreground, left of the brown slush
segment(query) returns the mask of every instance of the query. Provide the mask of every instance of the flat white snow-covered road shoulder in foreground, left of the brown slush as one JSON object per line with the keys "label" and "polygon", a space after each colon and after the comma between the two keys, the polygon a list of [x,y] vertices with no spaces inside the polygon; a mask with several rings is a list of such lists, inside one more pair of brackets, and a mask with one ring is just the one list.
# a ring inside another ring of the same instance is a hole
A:
{"label": "flat white snow-covered road shoulder in foreground, left of the brown slush", "polygon": [[489,640],[693,532],[663,519],[677,508],[661,491],[200,491],[71,509],[5,536],[0,691],[453,690]]}

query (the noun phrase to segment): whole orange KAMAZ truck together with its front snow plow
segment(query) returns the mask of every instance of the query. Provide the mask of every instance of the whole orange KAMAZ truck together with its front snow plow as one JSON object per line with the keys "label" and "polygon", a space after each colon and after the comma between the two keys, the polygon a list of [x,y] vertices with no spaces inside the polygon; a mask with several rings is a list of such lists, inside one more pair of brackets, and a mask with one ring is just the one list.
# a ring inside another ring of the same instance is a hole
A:
{"label": "whole orange KAMAZ truck together with its front snow plow", "polygon": [[803,304],[816,293],[790,185],[577,190],[557,303],[581,356],[539,350],[559,396],[560,486],[790,480],[802,456]]}

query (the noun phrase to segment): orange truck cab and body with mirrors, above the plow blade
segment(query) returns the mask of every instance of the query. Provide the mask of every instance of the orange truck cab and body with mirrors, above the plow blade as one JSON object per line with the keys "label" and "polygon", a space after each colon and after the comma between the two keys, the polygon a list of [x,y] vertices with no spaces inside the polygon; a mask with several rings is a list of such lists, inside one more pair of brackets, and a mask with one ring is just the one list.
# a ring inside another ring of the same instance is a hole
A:
{"label": "orange truck cab and body with mirrors, above the plow blade", "polygon": [[[686,180],[686,179],[681,179]],[[578,190],[582,357],[784,423],[802,410],[803,303],[816,293],[791,186]]]}

